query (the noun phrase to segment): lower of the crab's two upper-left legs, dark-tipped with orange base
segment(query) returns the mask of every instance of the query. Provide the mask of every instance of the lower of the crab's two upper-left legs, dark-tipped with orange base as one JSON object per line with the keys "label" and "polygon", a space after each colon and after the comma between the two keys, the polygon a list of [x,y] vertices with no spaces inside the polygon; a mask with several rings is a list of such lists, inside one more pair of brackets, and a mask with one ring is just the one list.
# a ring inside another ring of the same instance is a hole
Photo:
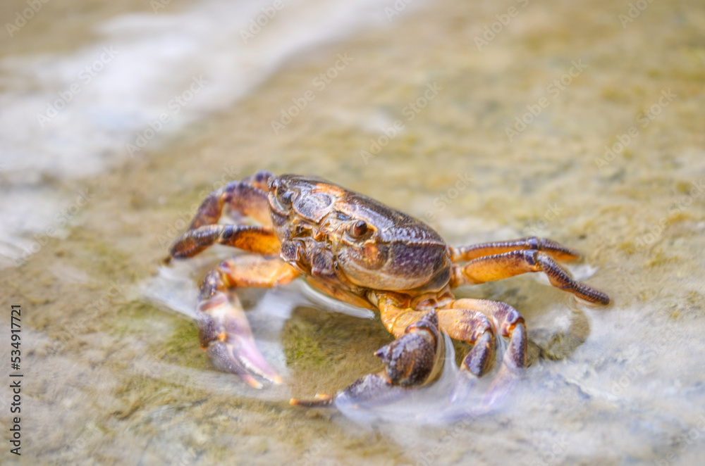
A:
{"label": "lower of the crab's two upper-left legs, dark-tipped with orange base", "polygon": [[281,244],[274,231],[253,225],[204,225],[182,234],[169,249],[170,257],[185,259],[213,244],[233,246],[264,256],[277,256]]}

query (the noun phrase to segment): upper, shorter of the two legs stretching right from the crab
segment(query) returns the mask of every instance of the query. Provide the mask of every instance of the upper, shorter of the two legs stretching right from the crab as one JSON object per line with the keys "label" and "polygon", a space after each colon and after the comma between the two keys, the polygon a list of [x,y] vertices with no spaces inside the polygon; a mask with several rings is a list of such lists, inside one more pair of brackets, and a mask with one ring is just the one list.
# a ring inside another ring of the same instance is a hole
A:
{"label": "upper, shorter of the two legs stretching right from the crab", "polygon": [[559,244],[553,239],[527,237],[510,241],[474,244],[472,246],[449,246],[450,260],[473,260],[484,256],[495,256],[510,251],[543,251],[556,260],[575,260],[580,253]]}

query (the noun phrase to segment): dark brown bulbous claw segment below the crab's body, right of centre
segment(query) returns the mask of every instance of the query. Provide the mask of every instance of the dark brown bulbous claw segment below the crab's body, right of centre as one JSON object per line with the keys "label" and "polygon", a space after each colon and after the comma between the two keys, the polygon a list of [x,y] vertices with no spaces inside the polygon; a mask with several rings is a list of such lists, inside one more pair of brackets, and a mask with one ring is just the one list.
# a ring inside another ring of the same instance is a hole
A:
{"label": "dark brown bulbous claw segment below the crab's body, right of centre", "polygon": [[409,325],[405,333],[374,353],[384,363],[387,381],[394,385],[419,385],[438,367],[441,339],[438,315],[429,311]]}

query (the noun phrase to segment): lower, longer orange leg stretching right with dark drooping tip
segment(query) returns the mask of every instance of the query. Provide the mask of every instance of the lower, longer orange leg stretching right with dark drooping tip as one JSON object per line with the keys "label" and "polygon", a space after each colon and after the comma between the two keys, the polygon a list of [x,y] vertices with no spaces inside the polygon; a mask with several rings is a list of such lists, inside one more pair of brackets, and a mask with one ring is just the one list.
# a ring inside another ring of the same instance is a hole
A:
{"label": "lower, longer orange leg stretching right with dark drooping tip", "polygon": [[450,286],[494,282],[527,272],[544,272],[553,286],[570,291],[585,301],[605,306],[610,303],[609,296],[576,282],[555,260],[539,251],[510,251],[471,260],[463,267],[454,265]]}

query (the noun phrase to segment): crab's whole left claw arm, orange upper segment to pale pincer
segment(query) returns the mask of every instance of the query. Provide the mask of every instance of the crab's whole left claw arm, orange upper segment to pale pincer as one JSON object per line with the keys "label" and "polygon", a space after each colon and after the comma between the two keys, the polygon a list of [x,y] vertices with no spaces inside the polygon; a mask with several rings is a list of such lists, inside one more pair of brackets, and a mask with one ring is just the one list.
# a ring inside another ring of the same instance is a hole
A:
{"label": "crab's whole left claw arm, orange upper segment to pale pincer", "polygon": [[226,293],[233,286],[277,286],[287,284],[298,272],[279,258],[239,256],[225,260],[201,283],[196,318],[201,348],[219,367],[261,388],[253,374],[280,383],[281,377],[255,346],[250,324],[237,296]]}

